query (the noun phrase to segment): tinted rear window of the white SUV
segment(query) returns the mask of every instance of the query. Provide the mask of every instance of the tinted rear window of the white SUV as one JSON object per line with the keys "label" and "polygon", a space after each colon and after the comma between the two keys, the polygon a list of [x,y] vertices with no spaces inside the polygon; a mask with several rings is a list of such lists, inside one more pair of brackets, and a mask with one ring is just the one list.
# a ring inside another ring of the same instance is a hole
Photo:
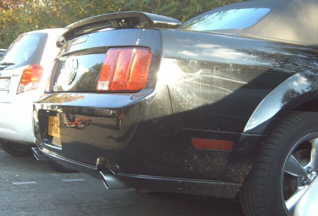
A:
{"label": "tinted rear window of the white SUV", "polygon": [[0,68],[12,69],[40,63],[47,33],[32,32],[18,36],[0,60]]}

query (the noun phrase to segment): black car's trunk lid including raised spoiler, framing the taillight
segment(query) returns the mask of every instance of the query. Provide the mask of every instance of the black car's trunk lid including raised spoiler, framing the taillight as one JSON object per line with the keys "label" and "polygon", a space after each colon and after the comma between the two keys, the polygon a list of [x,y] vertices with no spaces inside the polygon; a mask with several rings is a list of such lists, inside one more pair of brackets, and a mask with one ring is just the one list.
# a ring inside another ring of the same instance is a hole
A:
{"label": "black car's trunk lid including raised spoiler, framing the taillight", "polygon": [[[55,60],[49,91],[96,91],[96,82],[111,48],[145,48],[151,51],[147,79],[155,79],[161,55],[158,29],[142,24],[171,26],[178,20],[139,11],[103,14],[74,22],[64,28],[56,43],[60,52]],[[155,54],[154,54],[155,53]]]}

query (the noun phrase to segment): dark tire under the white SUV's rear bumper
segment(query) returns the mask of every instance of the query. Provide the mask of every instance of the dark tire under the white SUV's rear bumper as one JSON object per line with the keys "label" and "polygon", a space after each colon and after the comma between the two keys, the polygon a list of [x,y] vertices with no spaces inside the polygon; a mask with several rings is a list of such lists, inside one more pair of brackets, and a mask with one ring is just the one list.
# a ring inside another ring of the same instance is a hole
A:
{"label": "dark tire under the white SUV's rear bumper", "polygon": [[13,156],[31,156],[32,147],[35,147],[35,145],[20,144],[11,141],[2,142],[2,149]]}

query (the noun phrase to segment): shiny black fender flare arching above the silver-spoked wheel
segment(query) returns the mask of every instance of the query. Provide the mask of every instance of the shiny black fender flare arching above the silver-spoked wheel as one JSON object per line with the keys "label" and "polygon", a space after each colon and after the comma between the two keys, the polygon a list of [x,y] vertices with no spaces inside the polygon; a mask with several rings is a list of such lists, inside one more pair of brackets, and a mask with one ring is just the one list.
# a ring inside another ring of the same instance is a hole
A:
{"label": "shiny black fender flare arching above the silver-spoked wheel", "polygon": [[318,112],[318,75],[312,70],[292,75],[258,104],[243,133],[269,135],[292,111]]}

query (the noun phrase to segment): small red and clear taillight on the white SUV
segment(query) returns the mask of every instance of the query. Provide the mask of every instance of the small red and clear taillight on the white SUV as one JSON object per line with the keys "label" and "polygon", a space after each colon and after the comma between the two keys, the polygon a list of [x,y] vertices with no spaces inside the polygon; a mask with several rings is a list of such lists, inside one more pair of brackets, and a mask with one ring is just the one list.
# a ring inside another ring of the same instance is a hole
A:
{"label": "small red and clear taillight on the white SUV", "polygon": [[42,74],[43,68],[39,64],[27,65],[22,72],[16,93],[37,88]]}

